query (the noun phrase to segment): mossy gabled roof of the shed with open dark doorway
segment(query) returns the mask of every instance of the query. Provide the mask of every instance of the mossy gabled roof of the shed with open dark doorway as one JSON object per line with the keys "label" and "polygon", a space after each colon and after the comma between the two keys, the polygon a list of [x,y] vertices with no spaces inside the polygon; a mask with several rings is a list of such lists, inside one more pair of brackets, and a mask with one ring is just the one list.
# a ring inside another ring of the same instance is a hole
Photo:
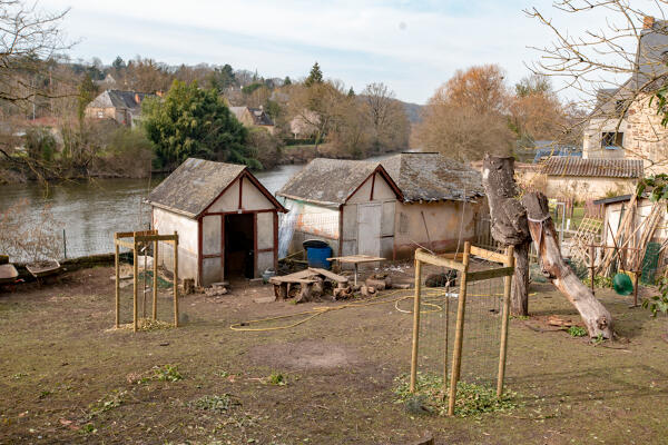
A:
{"label": "mossy gabled roof of the shed with open dark doorway", "polygon": [[196,218],[243,175],[247,176],[279,211],[285,211],[246,166],[196,158],[188,158],[178,166],[150,192],[148,200],[157,207]]}

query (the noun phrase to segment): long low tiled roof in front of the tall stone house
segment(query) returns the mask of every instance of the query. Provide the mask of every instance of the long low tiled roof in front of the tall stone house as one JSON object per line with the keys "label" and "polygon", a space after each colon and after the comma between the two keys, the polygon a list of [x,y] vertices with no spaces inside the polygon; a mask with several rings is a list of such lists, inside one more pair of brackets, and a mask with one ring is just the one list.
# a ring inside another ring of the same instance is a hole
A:
{"label": "long low tiled roof in front of the tall stone house", "polygon": [[599,178],[641,178],[642,159],[549,158],[541,172],[551,176],[589,176]]}

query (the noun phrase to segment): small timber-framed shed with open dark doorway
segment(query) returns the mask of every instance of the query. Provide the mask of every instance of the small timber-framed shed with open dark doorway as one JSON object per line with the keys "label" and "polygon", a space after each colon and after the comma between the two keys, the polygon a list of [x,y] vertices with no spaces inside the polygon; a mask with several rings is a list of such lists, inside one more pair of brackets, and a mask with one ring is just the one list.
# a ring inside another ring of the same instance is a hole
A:
{"label": "small timber-framed shed with open dark doorway", "polygon": [[[178,276],[200,286],[256,278],[276,268],[278,212],[274,196],[240,165],[189,158],[149,195],[153,227],[178,233]],[[171,246],[158,264],[171,270]]]}

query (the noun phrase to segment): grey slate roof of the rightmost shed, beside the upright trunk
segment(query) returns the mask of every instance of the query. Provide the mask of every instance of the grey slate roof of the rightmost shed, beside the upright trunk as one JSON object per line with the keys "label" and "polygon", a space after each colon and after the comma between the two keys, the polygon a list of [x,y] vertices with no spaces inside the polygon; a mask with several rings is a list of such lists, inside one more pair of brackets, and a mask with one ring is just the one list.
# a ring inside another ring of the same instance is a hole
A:
{"label": "grey slate roof of the rightmost shed, beside the upright trunk", "polygon": [[479,171],[441,154],[403,152],[381,164],[401,189],[404,202],[463,201],[484,195]]}

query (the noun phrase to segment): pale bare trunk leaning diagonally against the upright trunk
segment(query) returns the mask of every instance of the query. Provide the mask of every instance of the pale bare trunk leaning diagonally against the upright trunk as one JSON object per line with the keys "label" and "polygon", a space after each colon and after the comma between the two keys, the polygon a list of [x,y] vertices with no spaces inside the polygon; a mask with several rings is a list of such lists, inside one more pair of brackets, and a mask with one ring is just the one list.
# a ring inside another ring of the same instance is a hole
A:
{"label": "pale bare trunk leaning diagonally against the upright trunk", "polygon": [[522,205],[527,209],[529,230],[538,248],[542,273],[578,309],[590,337],[602,335],[605,338],[612,338],[612,316],[561,256],[557,230],[548,209],[548,198],[540,192],[527,194],[522,197]]}

